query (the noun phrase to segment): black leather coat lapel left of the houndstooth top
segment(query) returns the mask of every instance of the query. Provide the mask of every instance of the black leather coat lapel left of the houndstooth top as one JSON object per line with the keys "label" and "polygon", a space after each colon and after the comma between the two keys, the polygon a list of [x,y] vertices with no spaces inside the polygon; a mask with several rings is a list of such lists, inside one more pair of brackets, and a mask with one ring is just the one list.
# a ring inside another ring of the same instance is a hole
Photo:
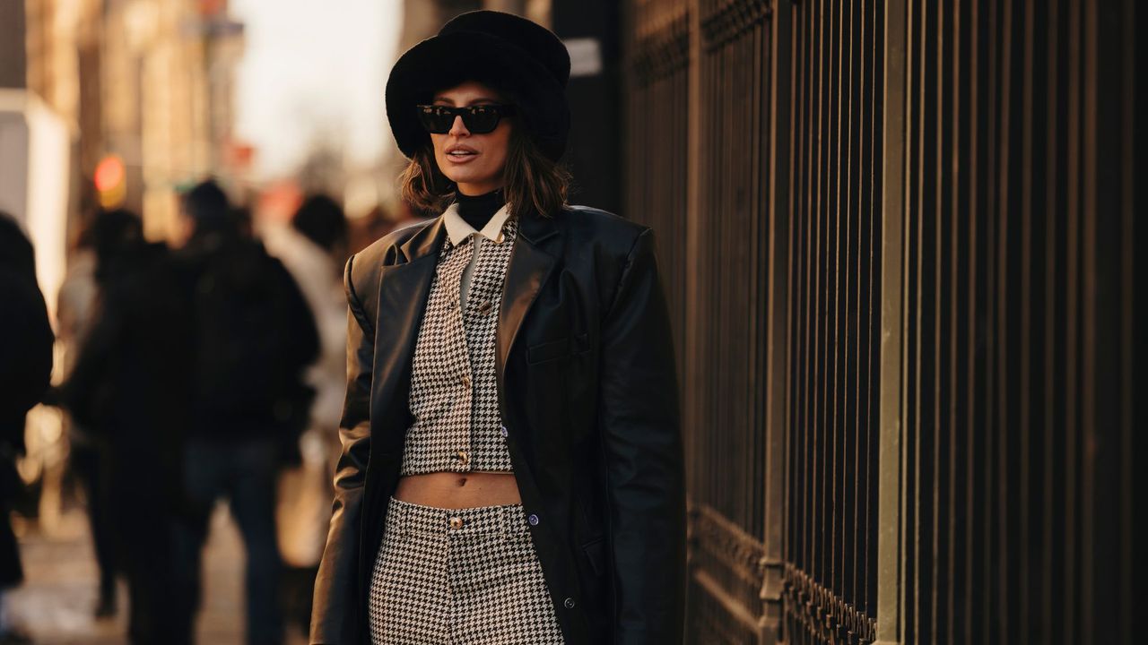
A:
{"label": "black leather coat lapel left of the houndstooth top", "polygon": [[[371,411],[377,419],[398,421],[402,418],[402,414],[388,414],[387,406],[401,394],[400,386],[410,380],[414,343],[445,238],[447,227],[440,217],[400,247],[405,263],[383,266],[380,272],[374,335],[374,407]],[[388,436],[393,434],[387,433]],[[396,438],[402,441],[401,435]]]}

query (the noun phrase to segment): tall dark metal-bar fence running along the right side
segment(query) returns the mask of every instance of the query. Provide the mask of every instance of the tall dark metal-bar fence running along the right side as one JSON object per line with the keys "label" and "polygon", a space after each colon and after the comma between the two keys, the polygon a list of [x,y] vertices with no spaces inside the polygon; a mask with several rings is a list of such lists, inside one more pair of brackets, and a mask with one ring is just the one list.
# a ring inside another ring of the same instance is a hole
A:
{"label": "tall dark metal-bar fence running along the right side", "polygon": [[1131,642],[1134,3],[626,8],[691,642]]}

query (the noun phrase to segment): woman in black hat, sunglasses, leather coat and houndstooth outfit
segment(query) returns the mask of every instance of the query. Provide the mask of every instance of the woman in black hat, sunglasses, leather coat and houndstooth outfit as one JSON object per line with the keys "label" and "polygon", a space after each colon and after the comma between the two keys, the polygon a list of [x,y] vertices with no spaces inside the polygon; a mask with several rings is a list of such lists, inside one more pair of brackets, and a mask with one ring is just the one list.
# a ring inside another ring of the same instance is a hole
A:
{"label": "woman in black hat, sunglasses, leather coat and houndstooth outfit", "polygon": [[683,456],[652,234],[564,204],[568,76],[553,33],[495,11],[391,71],[404,195],[441,215],[347,263],[312,643],[682,639]]}

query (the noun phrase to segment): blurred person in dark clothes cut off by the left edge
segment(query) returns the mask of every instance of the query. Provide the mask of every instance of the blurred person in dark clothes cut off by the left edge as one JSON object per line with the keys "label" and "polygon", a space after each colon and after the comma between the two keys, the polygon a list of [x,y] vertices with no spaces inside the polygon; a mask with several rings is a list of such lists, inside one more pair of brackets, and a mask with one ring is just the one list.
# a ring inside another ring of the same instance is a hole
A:
{"label": "blurred person in dark clothes cut off by the left edge", "polygon": [[0,645],[30,643],[8,615],[8,590],[24,580],[9,519],[23,482],[16,458],[24,453],[24,417],[40,402],[52,375],[52,326],[36,282],[32,244],[0,211]]}

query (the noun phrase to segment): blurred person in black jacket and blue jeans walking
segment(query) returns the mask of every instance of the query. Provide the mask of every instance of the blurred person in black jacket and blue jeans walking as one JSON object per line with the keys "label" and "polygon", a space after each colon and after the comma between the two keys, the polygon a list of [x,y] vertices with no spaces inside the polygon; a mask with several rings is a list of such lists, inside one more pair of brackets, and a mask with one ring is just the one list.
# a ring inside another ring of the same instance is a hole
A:
{"label": "blurred person in black jacket and blue jeans walking", "polygon": [[179,531],[181,624],[200,605],[200,558],[226,498],[247,551],[247,640],[282,640],[276,476],[297,463],[313,390],[315,321],[282,264],[245,234],[211,180],[183,200],[193,232],[180,255],[193,301],[192,425],[184,461],[189,512]]}

